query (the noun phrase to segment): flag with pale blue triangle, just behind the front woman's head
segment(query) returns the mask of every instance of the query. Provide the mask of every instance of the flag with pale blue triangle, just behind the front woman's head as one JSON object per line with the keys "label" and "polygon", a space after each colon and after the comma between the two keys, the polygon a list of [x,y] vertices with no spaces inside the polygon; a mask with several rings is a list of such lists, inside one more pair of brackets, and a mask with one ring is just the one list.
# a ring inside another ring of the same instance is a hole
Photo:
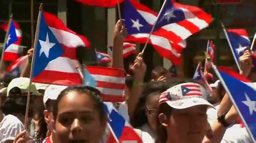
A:
{"label": "flag with pale blue triangle, just behind the front woman's head", "polygon": [[122,69],[87,66],[84,84],[97,88],[105,102],[123,102],[125,73]]}

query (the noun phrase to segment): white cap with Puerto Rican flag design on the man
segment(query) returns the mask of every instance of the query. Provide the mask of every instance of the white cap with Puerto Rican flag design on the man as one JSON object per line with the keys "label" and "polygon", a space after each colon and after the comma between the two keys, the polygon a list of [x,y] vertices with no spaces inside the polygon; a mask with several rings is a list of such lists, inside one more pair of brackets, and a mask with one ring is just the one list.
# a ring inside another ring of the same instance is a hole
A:
{"label": "white cap with Puerto Rican flag design on the man", "polygon": [[186,109],[197,105],[214,106],[207,100],[207,91],[197,83],[181,83],[161,93],[159,104],[167,103],[174,109]]}

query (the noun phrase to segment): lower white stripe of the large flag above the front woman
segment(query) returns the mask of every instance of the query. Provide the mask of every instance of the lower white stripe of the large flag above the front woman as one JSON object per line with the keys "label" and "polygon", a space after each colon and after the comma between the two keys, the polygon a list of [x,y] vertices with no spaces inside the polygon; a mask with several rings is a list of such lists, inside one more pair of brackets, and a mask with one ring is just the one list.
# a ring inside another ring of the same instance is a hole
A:
{"label": "lower white stripe of the large flag above the front woman", "polygon": [[58,57],[48,63],[45,70],[59,71],[64,73],[78,73],[76,66],[79,65],[77,60],[71,60],[66,57]]}

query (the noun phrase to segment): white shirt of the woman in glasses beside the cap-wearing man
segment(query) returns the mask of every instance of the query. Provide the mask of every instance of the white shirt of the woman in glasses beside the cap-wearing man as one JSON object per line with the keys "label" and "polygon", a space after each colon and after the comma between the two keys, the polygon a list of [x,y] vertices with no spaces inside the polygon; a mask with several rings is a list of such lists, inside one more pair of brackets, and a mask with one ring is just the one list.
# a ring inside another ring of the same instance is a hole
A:
{"label": "white shirt of the woman in glasses beside the cap-wearing man", "polygon": [[155,135],[151,131],[149,124],[145,124],[140,129],[135,129],[135,131],[143,142],[154,143]]}

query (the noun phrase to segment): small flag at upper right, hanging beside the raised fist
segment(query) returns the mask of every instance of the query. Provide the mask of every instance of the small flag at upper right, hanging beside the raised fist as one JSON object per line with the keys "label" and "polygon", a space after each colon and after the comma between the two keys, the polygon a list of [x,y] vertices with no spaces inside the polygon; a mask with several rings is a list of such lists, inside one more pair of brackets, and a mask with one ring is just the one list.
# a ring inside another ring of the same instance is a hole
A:
{"label": "small flag at upper right, hanging beside the raised fist", "polygon": [[227,36],[231,42],[231,51],[233,53],[234,60],[240,70],[239,56],[243,55],[246,49],[250,49],[251,46],[248,33],[244,29],[228,29]]}

